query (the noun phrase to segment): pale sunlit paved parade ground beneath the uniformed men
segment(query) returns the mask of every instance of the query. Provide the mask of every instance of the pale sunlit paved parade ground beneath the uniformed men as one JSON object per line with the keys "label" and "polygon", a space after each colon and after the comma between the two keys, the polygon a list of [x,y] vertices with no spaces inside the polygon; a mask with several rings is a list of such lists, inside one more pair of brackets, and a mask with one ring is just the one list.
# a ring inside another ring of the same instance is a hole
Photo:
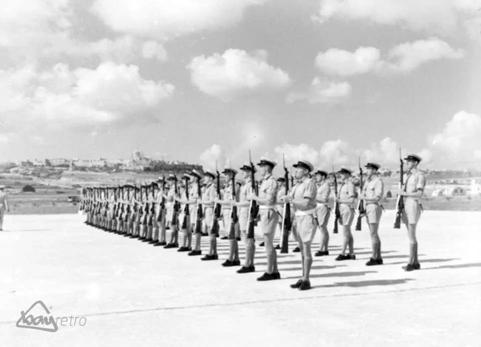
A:
{"label": "pale sunlit paved parade ground beneath the uniformed men", "polygon": [[[278,253],[282,279],[258,282],[263,247],[256,273],[237,274],[220,265],[226,240],[219,260],[201,261],[88,226],[81,214],[7,215],[0,346],[481,345],[481,212],[426,211],[421,269],[412,272],[401,268],[408,240],[404,228],[392,228],[393,215],[381,219],[380,266],[365,266],[366,224],[353,231],[358,259],[335,261],[342,238],[330,225],[331,255],[315,257],[307,291],[289,287],[301,275],[294,242],[289,254]],[[58,330],[17,327],[21,311],[60,317]]]}

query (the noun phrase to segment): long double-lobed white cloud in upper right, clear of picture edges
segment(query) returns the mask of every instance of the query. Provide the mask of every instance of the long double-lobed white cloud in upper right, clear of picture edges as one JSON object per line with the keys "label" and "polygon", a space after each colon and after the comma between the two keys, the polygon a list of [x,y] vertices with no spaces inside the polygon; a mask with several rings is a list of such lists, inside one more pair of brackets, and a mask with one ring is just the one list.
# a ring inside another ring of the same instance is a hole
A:
{"label": "long double-lobed white cloud in upper right, clear of picture edges", "polygon": [[375,47],[359,47],[353,52],[330,48],[317,54],[315,64],[324,73],[350,76],[368,72],[410,72],[428,61],[459,59],[463,56],[462,49],[452,48],[447,42],[430,37],[398,44],[390,49],[385,59],[381,58],[381,51]]}

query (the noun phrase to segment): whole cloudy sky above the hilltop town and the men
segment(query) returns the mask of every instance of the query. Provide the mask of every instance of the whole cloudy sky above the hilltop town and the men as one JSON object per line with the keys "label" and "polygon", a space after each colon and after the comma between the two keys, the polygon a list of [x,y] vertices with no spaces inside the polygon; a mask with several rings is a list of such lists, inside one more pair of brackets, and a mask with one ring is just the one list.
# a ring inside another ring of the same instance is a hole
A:
{"label": "whole cloudy sky above the hilltop town and the men", "polygon": [[481,169],[481,0],[0,0],[0,161]]}

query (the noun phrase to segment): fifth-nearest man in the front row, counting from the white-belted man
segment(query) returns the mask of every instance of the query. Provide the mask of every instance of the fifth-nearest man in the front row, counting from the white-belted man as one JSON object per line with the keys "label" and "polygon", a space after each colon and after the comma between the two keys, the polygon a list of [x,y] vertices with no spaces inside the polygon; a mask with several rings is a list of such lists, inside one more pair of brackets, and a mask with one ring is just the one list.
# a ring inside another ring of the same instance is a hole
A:
{"label": "fifth-nearest man in the front row, counting from the white-belted man", "polygon": [[200,203],[204,206],[204,231],[209,235],[209,252],[202,260],[217,260],[219,256],[217,255],[217,235],[212,232],[211,226],[214,218],[214,200],[216,197],[215,192],[215,174],[211,171],[204,171],[204,183],[205,189],[202,193],[202,198]]}

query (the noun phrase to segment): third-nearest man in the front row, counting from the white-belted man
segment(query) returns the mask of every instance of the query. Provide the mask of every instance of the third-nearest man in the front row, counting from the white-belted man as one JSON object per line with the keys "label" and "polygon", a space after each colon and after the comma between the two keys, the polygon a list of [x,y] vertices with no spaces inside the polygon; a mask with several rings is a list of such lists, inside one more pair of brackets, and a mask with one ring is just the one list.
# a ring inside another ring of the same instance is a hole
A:
{"label": "third-nearest man in the front row, counting from the white-belted man", "polygon": [[256,168],[253,168],[249,162],[244,163],[242,167],[239,168],[244,184],[239,189],[239,201],[236,203],[238,207],[238,217],[239,217],[239,229],[244,237],[246,244],[246,260],[244,265],[237,270],[237,273],[248,273],[256,271],[254,266],[254,255],[256,254],[256,244],[254,238],[247,237],[247,228],[249,220],[249,206],[250,201],[248,197],[253,193],[252,191],[252,176],[256,173]]}

